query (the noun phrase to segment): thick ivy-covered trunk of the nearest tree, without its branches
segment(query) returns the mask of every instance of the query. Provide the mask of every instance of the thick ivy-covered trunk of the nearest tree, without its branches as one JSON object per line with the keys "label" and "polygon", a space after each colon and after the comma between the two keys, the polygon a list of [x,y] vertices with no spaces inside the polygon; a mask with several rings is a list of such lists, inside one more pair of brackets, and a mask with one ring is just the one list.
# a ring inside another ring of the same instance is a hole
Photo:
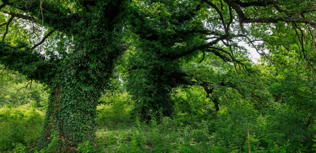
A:
{"label": "thick ivy-covered trunk of the nearest tree, without its branches", "polygon": [[97,102],[124,49],[117,33],[100,35],[102,27],[90,30],[97,35],[78,36],[85,39],[76,40],[75,51],[48,83],[51,95],[39,149],[52,146],[55,151],[76,151],[78,144],[94,141]]}

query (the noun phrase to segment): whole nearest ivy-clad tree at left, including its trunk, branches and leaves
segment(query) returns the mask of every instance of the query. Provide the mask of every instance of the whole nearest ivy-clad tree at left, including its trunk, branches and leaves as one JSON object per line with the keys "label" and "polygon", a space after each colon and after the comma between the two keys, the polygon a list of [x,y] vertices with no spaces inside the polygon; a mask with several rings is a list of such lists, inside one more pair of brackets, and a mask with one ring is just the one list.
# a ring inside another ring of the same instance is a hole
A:
{"label": "whole nearest ivy-clad tree at left, including its trunk, branches and leaves", "polygon": [[[97,101],[109,82],[115,61],[125,50],[121,36],[126,21],[124,10],[130,10],[128,3],[2,0],[1,20],[6,21],[1,25],[5,29],[0,42],[0,64],[49,87],[46,119],[37,149],[54,140],[56,148],[52,151],[76,151],[77,144],[94,140]],[[31,26],[23,28],[26,21]],[[34,38],[14,33],[18,29],[34,36],[41,26],[47,32],[42,40],[35,40],[35,45]],[[54,44],[39,47],[46,39]]]}

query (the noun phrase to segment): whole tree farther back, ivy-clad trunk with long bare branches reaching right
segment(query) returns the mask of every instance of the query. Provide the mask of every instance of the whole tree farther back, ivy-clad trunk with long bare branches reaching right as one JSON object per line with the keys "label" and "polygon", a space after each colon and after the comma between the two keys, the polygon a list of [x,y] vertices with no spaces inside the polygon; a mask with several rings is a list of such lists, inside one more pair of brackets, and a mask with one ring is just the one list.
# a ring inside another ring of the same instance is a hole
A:
{"label": "whole tree farther back, ivy-clad trunk with long bare branches reaching right", "polygon": [[[149,119],[151,109],[171,115],[173,101],[169,94],[180,84],[201,85],[207,95],[213,92],[210,84],[230,86],[240,92],[249,91],[226,79],[222,82],[197,80],[196,74],[183,69],[185,62],[200,56],[199,63],[208,57],[221,59],[228,67],[233,66],[235,75],[246,73],[252,76],[256,70],[252,68],[248,51],[238,44],[239,41],[252,46],[269,62],[273,62],[272,57],[279,56],[279,52],[264,52],[265,46],[269,46],[268,49],[276,45],[290,48],[287,45],[297,43],[298,47],[301,46],[300,55],[304,57],[300,56],[304,59],[301,62],[311,67],[309,71],[314,71],[313,52],[316,50],[312,48],[315,46],[316,9],[313,1],[153,0],[141,1],[138,6],[139,16],[133,22],[135,28],[132,31],[141,41],[135,45],[130,58],[127,85],[137,101],[136,110],[143,118]],[[285,29],[292,35],[288,35]],[[255,96],[252,93],[252,97]],[[219,110],[216,99],[214,104]]]}

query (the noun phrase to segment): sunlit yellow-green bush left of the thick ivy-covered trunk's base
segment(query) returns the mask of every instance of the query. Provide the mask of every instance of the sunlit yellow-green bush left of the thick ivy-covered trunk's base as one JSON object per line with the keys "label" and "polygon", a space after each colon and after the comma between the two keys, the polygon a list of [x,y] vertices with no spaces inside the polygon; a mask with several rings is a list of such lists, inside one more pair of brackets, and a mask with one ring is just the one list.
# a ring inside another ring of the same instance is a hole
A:
{"label": "sunlit yellow-green bush left of the thick ivy-covered trunk's base", "polygon": [[44,115],[32,104],[0,108],[0,151],[35,141],[42,130]]}

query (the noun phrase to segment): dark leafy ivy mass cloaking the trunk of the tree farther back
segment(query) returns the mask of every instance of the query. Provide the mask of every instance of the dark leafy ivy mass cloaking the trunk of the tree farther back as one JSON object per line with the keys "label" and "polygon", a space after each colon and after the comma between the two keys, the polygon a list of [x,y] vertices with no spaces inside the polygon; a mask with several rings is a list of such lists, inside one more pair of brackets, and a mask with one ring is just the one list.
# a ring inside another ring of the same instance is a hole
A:
{"label": "dark leafy ivy mass cloaking the trunk of the tree farther back", "polygon": [[199,18],[194,10],[198,3],[162,0],[136,4],[139,13],[131,31],[143,40],[129,54],[127,90],[141,119],[150,119],[149,110],[170,116],[174,113],[170,92],[179,82],[172,77],[181,72],[174,59],[202,42],[200,34],[191,33],[194,26],[202,28],[195,22]]}

